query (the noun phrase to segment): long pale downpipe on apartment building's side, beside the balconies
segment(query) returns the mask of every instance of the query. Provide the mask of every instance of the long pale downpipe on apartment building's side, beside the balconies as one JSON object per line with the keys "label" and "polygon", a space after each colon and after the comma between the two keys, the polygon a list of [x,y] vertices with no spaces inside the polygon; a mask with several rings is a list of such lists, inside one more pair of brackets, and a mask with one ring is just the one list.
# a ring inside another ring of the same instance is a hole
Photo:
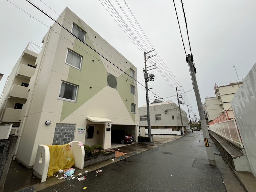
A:
{"label": "long pale downpipe on apartment building's side, beside the balconies", "polygon": [[32,103],[32,100],[33,100],[33,97],[34,97],[34,94],[35,94],[36,84],[37,84],[37,81],[38,81],[39,72],[41,70],[41,66],[42,66],[42,62],[43,62],[43,59],[44,59],[45,50],[46,50],[46,47],[47,47],[47,44],[48,44],[48,40],[49,40],[51,31],[52,31],[52,26],[50,26],[50,30],[49,30],[49,33],[47,35],[47,40],[46,40],[46,44],[45,44],[45,47],[44,47],[44,51],[43,51],[43,54],[42,54],[42,57],[41,57],[41,61],[39,63],[38,71],[36,73],[36,82],[34,83],[33,92],[30,95],[30,98],[28,100],[28,107],[27,107],[27,110],[26,110],[26,113],[25,113],[25,116],[24,116],[24,119],[23,119],[22,126],[20,128],[20,134],[19,134],[19,137],[18,137],[18,140],[17,140],[17,144],[16,144],[16,147],[15,147],[15,153],[14,153],[14,155],[12,157],[12,161],[14,161],[16,159],[16,156],[18,155],[17,152],[18,152],[18,149],[20,147],[20,140],[21,140],[21,137],[22,137],[23,132],[24,132],[24,127],[25,127],[25,124],[26,124],[27,118],[28,118],[28,112],[30,110],[31,103]]}

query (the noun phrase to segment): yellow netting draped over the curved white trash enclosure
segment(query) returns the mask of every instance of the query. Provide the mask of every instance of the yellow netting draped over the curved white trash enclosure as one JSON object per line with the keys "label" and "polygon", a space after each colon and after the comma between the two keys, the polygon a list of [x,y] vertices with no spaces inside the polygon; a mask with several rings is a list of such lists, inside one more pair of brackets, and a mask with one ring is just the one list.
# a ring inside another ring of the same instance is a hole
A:
{"label": "yellow netting draped over the curved white trash enclosure", "polygon": [[75,164],[69,144],[66,145],[48,145],[50,150],[50,163],[47,176],[51,177],[53,173],[60,169],[66,170]]}

